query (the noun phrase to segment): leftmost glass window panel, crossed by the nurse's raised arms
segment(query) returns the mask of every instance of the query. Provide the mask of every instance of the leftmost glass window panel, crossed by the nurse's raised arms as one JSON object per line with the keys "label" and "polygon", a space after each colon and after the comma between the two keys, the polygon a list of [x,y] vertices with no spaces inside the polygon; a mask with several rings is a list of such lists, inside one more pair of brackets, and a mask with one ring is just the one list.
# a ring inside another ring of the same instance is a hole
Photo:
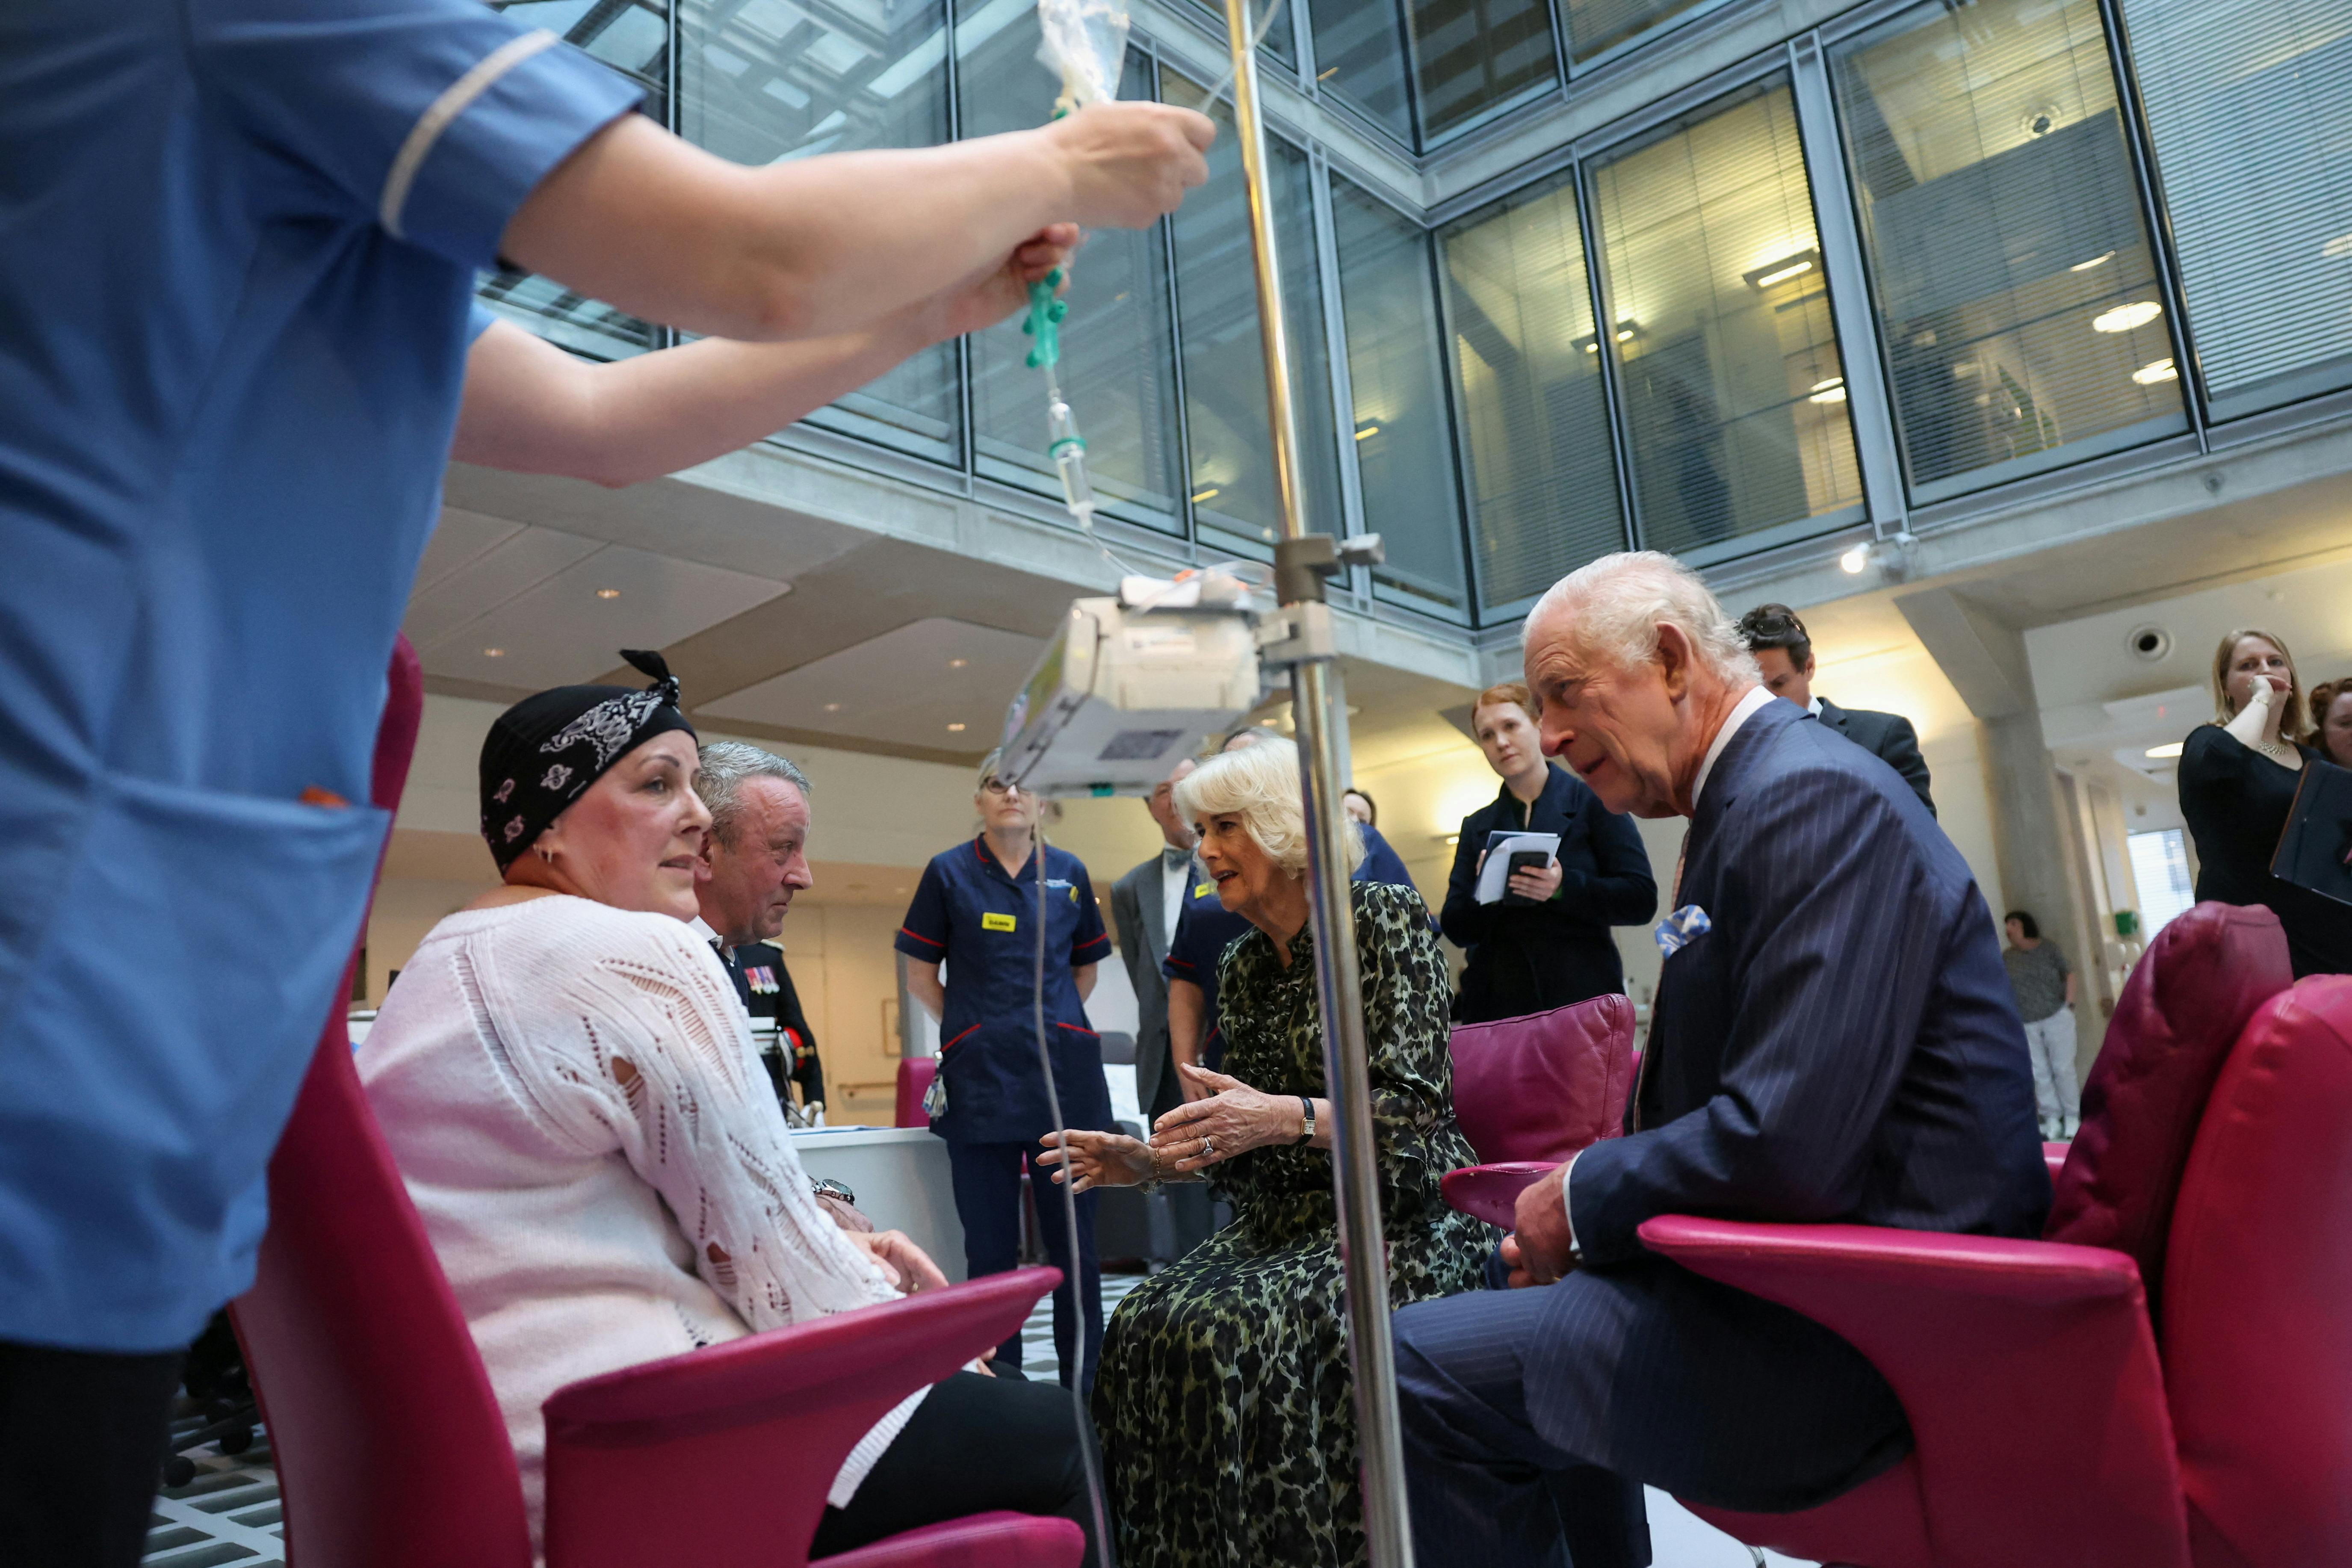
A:
{"label": "leftmost glass window panel, crossed by the nurse's raised arms", "polygon": [[[628,0],[626,5],[600,5],[597,0],[501,5],[492,0],[492,9],[546,28],[567,45],[604,61],[644,89],[644,101],[637,106],[642,115],[652,118],[654,125],[668,122],[668,0]],[[482,303],[506,320],[590,360],[626,360],[661,346],[661,329],[652,322],[574,294],[553,277],[499,268],[482,273],[480,294]]]}

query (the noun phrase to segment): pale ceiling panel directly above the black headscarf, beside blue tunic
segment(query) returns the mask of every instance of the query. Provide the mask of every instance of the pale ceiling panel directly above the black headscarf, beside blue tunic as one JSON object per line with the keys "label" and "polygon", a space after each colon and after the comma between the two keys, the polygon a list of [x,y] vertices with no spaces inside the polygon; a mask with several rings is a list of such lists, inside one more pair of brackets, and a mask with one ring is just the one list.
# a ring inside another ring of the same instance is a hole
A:
{"label": "pale ceiling panel directly above the black headscarf, beside blue tunic", "polygon": [[621,663],[621,649],[666,649],[790,588],[442,508],[402,630],[426,675],[541,689],[597,679]]}

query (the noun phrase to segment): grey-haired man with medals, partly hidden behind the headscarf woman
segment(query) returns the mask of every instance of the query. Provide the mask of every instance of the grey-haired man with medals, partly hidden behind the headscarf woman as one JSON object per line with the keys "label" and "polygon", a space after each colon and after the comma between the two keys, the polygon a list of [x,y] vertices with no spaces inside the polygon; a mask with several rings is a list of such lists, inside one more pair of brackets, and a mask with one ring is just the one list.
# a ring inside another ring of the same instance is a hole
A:
{"label": "grey-haired man with medals, partly hidden behind the headscarf woman", "polygon": [[710,806],[703,865],[694,877],[701,903],[696,926],[717,950],[743,1009],[776,1020],[776,1046],[762,1053],[776,1100],[790,1103],[788,1084],[800,1084],[804,1105],[823,1100],[816,1034],[800,1009],[783,950],[774,945],[793,893],[814,886],[807,858],[809,780],[757,745],[708,741],[694,792]]}

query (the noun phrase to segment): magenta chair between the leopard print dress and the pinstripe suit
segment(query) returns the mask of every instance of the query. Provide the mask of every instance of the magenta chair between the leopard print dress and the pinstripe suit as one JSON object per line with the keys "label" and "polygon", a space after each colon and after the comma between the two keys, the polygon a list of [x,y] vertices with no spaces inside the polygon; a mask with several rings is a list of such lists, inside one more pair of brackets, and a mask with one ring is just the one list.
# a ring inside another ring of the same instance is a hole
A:
{"label": "magenta chair between the leopard print dress and the pinstripe suit", "polygon": [[1618,992],[1454,1030],[1454,1117],[1482,1164],[1446,1171],[1451,1208],[1510,1229],[1519,1192],[1625,1131],[1632,999]]}

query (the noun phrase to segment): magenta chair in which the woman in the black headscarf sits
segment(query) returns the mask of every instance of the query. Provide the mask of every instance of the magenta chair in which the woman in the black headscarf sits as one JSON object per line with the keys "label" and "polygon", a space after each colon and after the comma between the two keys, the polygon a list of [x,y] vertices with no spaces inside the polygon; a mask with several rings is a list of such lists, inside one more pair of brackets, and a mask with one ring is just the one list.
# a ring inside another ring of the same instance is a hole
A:
{"label": "magenta chair in which the woman in the black headscarf sits", "polygon": [[[421,679],[400,644],[376,743],[393,806]],[[802,1568],[826,1490],[891,1406],[1014,1333],[1061,1279],[995,1274],[557,1389],[548,1568]],[[230,1307],[285,1497],[287,1561],[532,1568],[522,1483],[473,1335],[367,1110],[334,1009],[270,1159],[254,1288]],[[1075,1568],[1068,1519],[978,1514],[837,1568]]]}

